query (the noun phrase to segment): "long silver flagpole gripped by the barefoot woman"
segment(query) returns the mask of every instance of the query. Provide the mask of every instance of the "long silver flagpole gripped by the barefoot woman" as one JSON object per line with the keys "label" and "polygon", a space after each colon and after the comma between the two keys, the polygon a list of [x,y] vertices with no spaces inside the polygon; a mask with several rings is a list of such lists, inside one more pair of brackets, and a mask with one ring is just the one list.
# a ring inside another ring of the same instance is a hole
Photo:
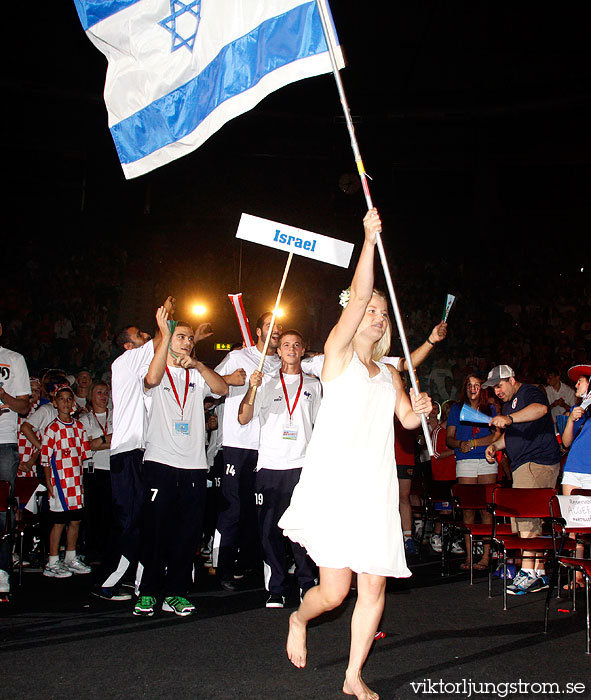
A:
{"label": "long silver flagpole gripped by the barefoot woman", "polygon": [[[367,173],[363,166],[363,160],[361,159],[361,151],[359,150],[359,144],[357,142],[357,137],[355,135],[355,127],[353,125],[353,120],[351,119],[351,112],[349,110],[349,104],[347,102],[347,96],[345,94],[345,88],[343,86],[343,81],[341,80],[341,75],[337,66],[337,60],[335,57],[336,45],[333,41],[334,35],[330,30],[331,17],[328,10],[327,0],[316,0],[316,6],[318,7],[318,12],[320,14],[320,19],[322,22],[322,29],[324,31],[324,37],[328,46],[328,55],[330,56],[330,63],[332,66],[332,72],[335,77],[337,84],[337,90],[339,93],[339,98],[341,100],[341,106],[343,108],[343,114],[345,116],[345,122],[347,124],[347,129],[349,131],[349,138],[351,139],[351,148],[353,149],[353,156],[355,158],[355,163],[357,164],[357,170],[359,172],[359,177],[361,178],[361,185],[363,187],[363,193],[365,195],[365,201],[367,203],[368,209],[373,209],[373,202],[371,199],[371,193],[369,191],[369,183],[367,180]],[[386,286],[388,287],[388,292],[390,294],[390,302],[392,304],[392,310],[394,311],[394,318],[396,319],[396,325],[398,327],[398,332],[400,334],[400,342],[402,343],[402,350],[404,352],[404,358],[406,360],[406,365],[408,368],[408,374],[410,377],[410,382],[418,394],[420,389],[416,378],[416,372],[412,364],[412,358],[410,356],[410,350],[408,348],[408,342],[406,340],[406,333],[404,332],[404,324],[402,322],[402,316],[400,315],[400,309],[398,307],[398,301],[396,299],[396,293],[394,292],[394,285],[392,283],[392,277],[390,275],[390,269],[388,267],[388,260],[386,259],[386,251],[384,250],[384,244],[382,243],[381,234],[376,235],[376,244],[378,246],[378,251],[380,254],[380,261],[382,263],[382,269],[384,271],[384,277],[386,279]],[[424,413],[421,413],[421,425],[423,427],[423,434],[425,436],[425,444],[429,451],[429,455],[432,457],[434,455],[433,443],[431,442],[431,435],[429,434],[429,428],[427,426],[427,418]]]}

